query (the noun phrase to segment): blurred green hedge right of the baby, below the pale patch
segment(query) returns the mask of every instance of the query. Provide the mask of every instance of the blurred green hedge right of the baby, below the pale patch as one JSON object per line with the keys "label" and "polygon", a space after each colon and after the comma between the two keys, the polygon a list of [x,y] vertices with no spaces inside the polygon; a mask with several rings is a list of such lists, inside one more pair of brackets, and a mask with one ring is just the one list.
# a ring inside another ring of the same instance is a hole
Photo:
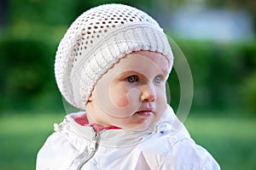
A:
{"label": "blurred green hedge right of the baby, below the pale patch", "polygon": [[[194,109],[247,108],[256,111],[255,41],[220,43],[176,39],[176,42],[192,71]],[[178,84],[175,72],[172,72],[169,82]],[[174,105],[177,106],[179,88],[172,88]]]}

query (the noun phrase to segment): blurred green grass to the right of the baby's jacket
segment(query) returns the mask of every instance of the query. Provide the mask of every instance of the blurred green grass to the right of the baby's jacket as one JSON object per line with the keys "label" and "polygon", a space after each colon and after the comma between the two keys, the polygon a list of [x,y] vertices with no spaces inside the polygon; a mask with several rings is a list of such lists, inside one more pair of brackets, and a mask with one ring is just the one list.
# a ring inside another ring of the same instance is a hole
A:
{"label": "blurred green grass to the right of the baby's jacket", "polygon": [[256,117],[217,115],[190,114],[185,125],[192,138],[215,157],[222,169],[255,170]]}

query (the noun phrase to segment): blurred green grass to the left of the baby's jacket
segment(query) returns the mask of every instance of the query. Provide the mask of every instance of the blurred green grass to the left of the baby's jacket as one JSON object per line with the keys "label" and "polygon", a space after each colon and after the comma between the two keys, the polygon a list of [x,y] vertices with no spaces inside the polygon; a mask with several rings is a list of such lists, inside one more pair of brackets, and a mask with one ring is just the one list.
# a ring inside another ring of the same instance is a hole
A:
{"label": "blurred green grass to the left of the baby's jacket", "polygon": [[45,139],[53,132],[53,123],[64,114],[32,113],[0,116],[0,167],[4,170],[35,169],[36,156]]}

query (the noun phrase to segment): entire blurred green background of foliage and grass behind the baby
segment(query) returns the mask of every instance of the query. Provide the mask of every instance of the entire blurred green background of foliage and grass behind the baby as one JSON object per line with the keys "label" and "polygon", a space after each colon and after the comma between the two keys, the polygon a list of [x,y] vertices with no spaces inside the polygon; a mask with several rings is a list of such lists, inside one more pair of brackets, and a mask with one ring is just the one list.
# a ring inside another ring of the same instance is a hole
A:
{"label": "entire blurred green background of foliage and grass behind the baby", "polygon": [[[256,2],[254,0],[2,0],[0,167],[35,169],[36,155],[65,111],[55,51],[68,26],[102,3],[143,9],[188,59],[194,100],[185,125],[222,169],[256,169]],[[179,85],[169,78],[172,106]]]}

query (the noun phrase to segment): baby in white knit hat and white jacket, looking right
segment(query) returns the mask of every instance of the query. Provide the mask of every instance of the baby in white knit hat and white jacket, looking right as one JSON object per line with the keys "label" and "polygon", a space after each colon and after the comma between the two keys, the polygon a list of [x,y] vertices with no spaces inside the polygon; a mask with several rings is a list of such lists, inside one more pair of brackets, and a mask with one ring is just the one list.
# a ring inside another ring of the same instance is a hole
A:
{"label": "baby in white knit hat and white jacket, looking right", "polygon": [[81,111],[55,125],[38,170],[219,169],[166,101],[173,55],[148,14],[106,4],[81,14],[55,58],[61,94]]}

